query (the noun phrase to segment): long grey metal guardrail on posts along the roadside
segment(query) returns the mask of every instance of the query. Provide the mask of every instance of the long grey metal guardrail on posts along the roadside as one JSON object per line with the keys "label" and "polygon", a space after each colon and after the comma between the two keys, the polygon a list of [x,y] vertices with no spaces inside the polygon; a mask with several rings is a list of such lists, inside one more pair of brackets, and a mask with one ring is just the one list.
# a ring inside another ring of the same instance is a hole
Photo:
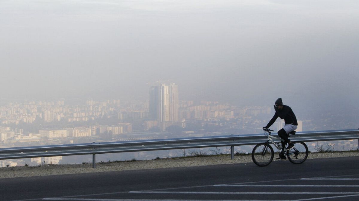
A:
{"label": "long grey metal guardrail on posts along the roadside", "polygon": [[[273,134],[275,136],[275,134]],[[293,141],[316,142],[335,141],[345,139],[359,139],[359,129],[297,132],[291,136]],[[194,137],[176,139],[155,139],[142,141],[63,144],[36,147],[0,148],[0,160],[14,158],[36,158],[50,156],[93,155],[95,168],[95,155],[102,153],[120,153],[137,151],[156,151],[168,149],[188,149],[203,147],[231,147],[231,157],[234,157],[234,146],[253,145],[265,142],[264,134],[245,134],[215,137]]]}

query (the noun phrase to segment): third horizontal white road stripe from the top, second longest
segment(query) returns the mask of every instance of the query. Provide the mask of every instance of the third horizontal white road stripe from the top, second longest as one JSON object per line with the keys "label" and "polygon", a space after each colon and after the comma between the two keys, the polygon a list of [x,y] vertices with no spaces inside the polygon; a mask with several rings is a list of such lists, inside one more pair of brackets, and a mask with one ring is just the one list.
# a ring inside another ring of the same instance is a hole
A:
{"label": "third horizontal white road stripe from the top, second longest", "polygon": [[130,191],[129,193],[158,193],[158,194],[359,194],[359,192],[206,192],[206,191]]}

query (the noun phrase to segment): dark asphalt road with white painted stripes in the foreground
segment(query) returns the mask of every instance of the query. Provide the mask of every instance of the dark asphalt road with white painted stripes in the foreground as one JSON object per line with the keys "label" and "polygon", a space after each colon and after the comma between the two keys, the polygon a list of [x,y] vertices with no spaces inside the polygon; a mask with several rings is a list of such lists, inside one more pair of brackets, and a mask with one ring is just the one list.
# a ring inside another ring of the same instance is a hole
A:
{"label": "dark asphalt road with white painted stripes in the foreground", "polygon": [[359,200],[359,157],[0,179],[0,200]]}

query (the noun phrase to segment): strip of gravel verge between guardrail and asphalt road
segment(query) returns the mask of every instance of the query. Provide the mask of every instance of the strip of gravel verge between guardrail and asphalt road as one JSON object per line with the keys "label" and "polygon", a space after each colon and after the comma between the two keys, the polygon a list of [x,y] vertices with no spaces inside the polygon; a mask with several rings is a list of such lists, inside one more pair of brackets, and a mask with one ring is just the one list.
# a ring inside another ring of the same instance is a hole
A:
{"label": "strip of gravel verge between guardrail and asphalt road", "polygon": [[[330,152],[330,153],[309,153],[310,158],[333,158],[359,156],[358,152]],[[250,155],[234,156],[208,156],[208,157],[186,157],[186,158],[164,158],[157,160],[126,161],[111,163],[96,163],[96,168],[90,164],[66,164],[66,165],[41,165],[0,168],[0,178],[32,177],[45,175],[64,175],[90,172],[108,172],[125,170],[143,170],[153,168],[190,167],[219,165],[231,163],[253,163]]]}

